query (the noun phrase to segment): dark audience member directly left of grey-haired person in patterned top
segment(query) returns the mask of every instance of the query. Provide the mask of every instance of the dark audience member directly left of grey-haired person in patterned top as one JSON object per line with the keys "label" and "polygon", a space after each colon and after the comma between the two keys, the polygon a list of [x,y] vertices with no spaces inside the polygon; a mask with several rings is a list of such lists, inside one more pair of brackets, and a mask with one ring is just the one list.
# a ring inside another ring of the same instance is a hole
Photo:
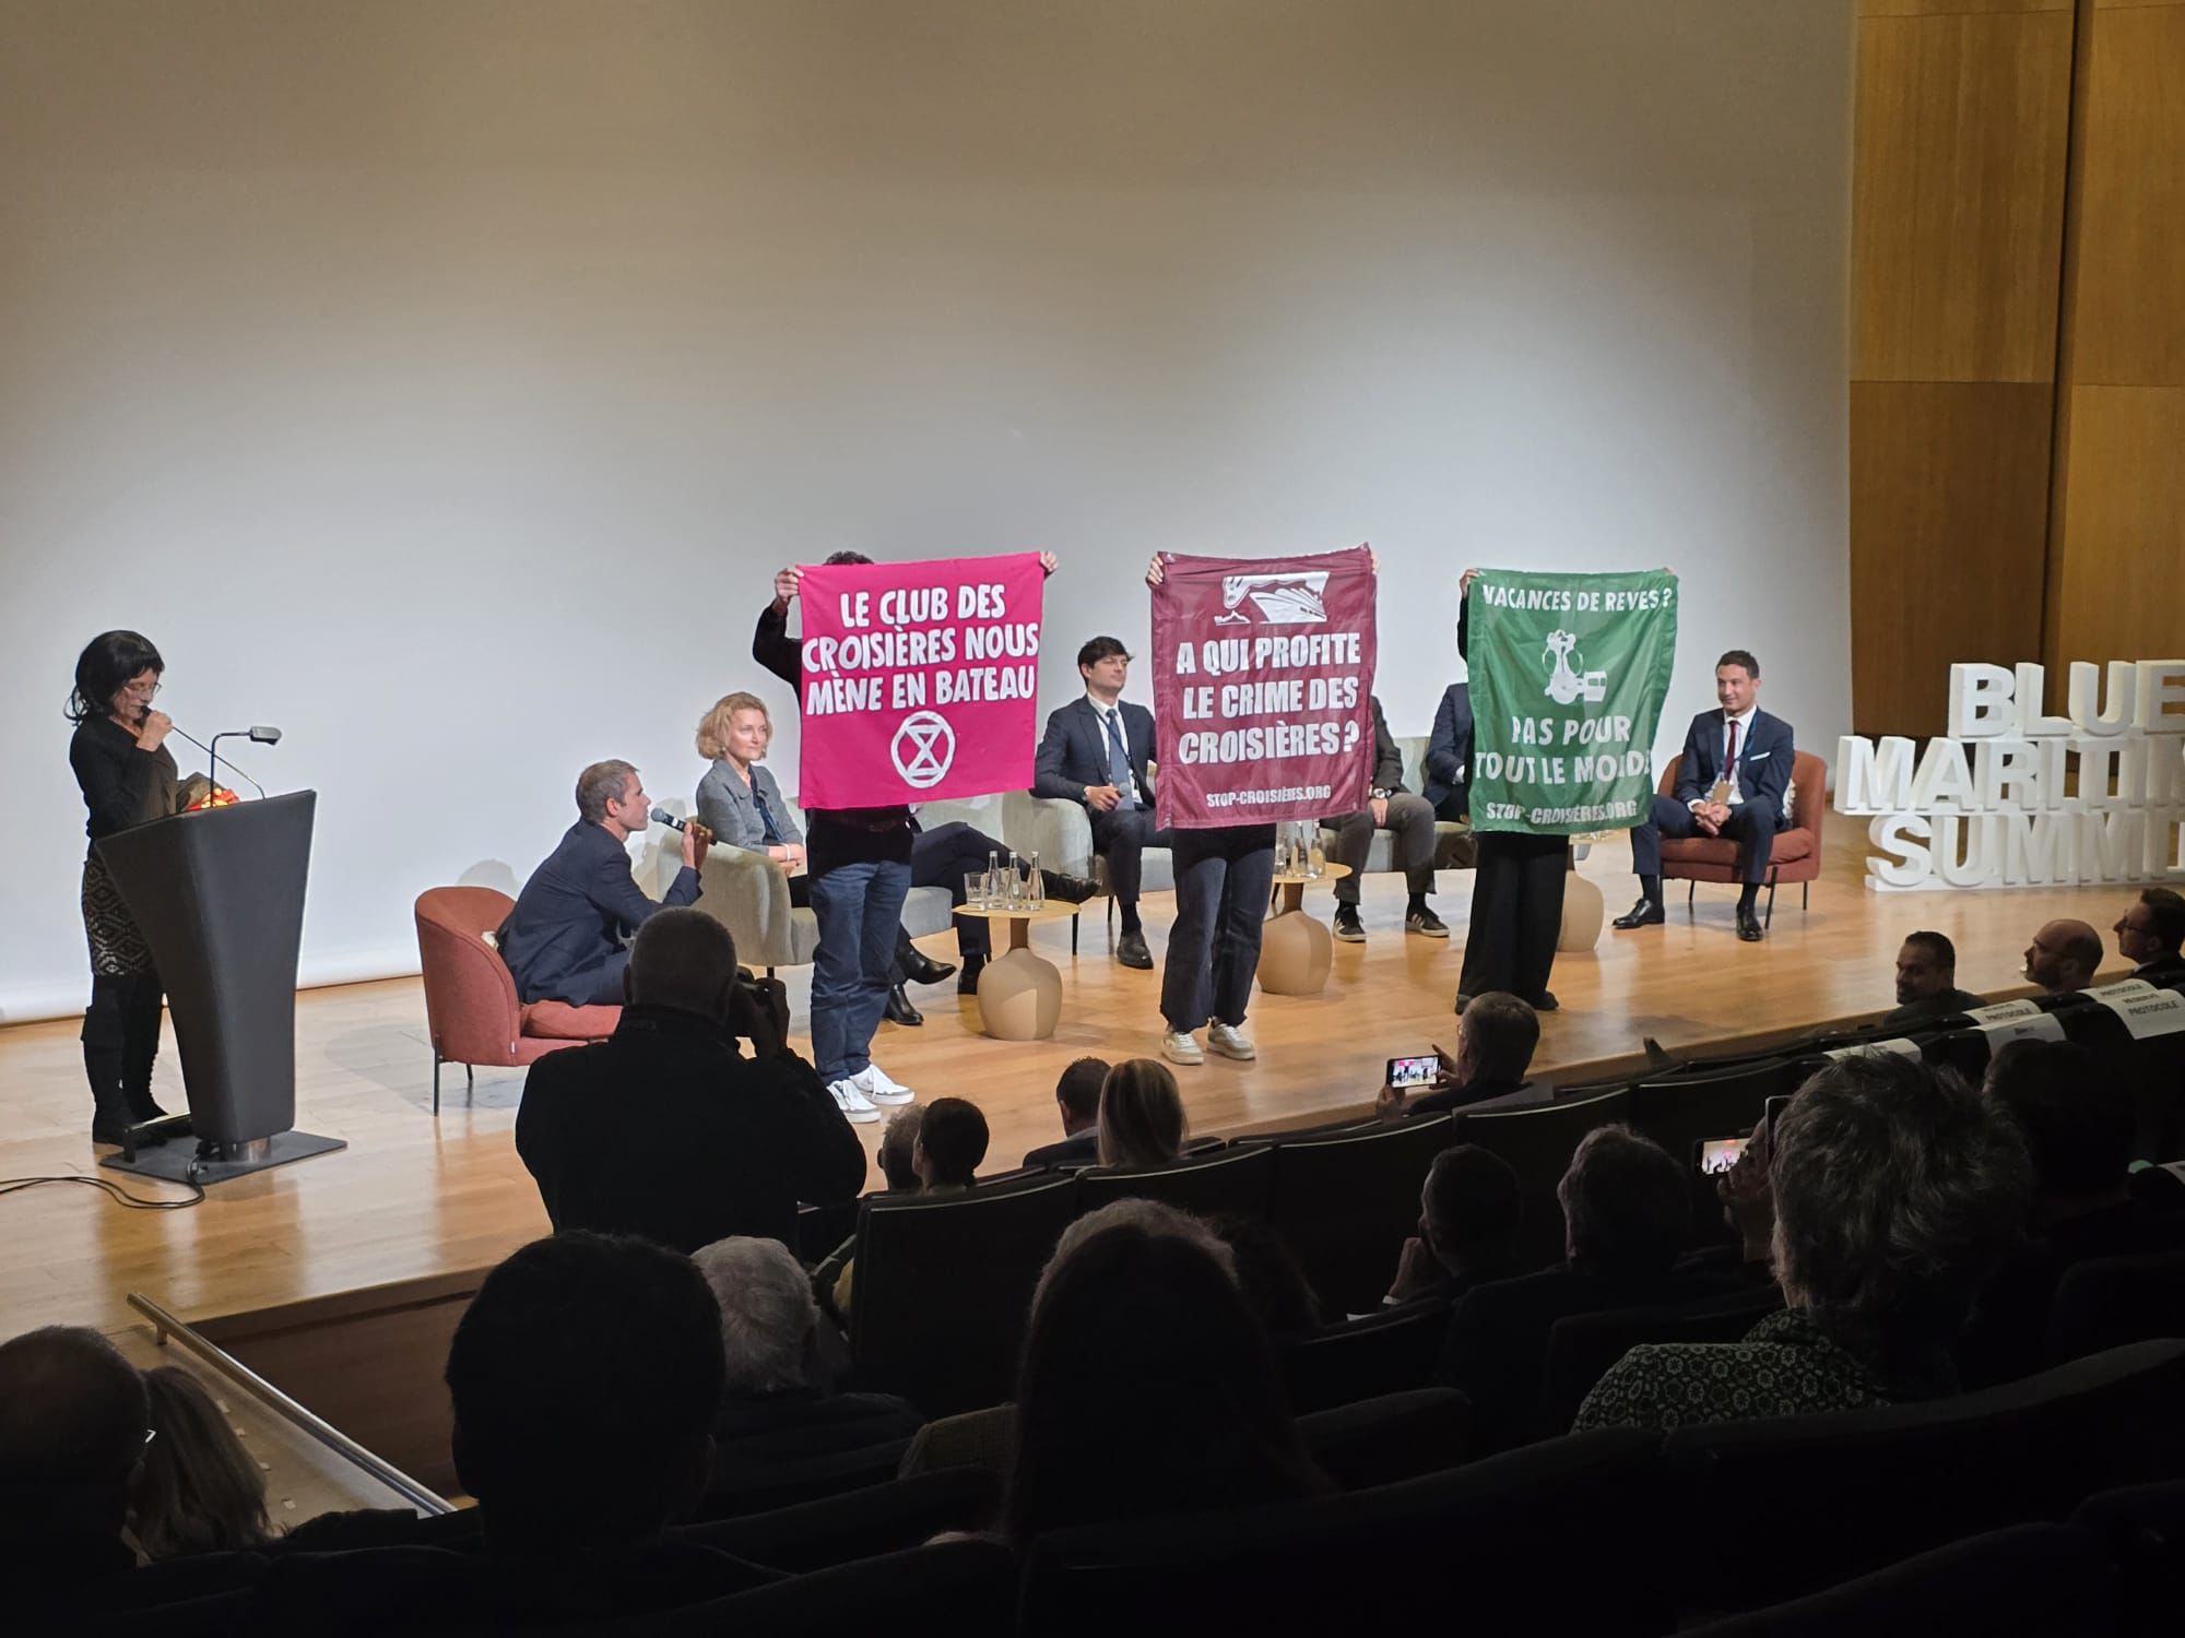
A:
{"label": "dark audience member directly left of grey-haired person in patterned top", "polygon": [[1436,1380],[1471,1398],[1481,1450],[1562,1433],[1538,1426],[1547,1341],[1558,1319],[1737,1289],[1722,1275],[1674,1269],[1691,1234],[1691,1184],[1676,1158],[1630,1127],[1588,1131],[1556,1195],[1567,1260],[1475,1286],[1449,1315]]}

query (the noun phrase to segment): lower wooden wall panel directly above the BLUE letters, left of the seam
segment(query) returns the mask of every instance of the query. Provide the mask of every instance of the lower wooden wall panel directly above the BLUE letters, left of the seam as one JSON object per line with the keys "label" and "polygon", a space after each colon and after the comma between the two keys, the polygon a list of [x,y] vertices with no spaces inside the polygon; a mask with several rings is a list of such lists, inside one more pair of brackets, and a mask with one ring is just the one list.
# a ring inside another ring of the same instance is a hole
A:
{"label": "lower wooden wall panel directly above the BLUE letters, left of the seam", "polygon": [[1953,660],[2041,649],[2052,389],[1851,384],[1853,727],[1940,734]]}

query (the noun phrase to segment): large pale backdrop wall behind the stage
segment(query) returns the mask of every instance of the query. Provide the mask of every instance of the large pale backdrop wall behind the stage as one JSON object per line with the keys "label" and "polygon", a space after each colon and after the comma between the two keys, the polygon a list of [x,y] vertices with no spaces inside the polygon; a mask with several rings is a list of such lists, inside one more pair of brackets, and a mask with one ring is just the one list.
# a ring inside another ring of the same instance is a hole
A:
{"label": "large pale backdrop wall behind the stage", "polygon": [[[415,970],[760,681],[782,561],[1370,539],[1685,577],[1849,727],[1849,0],[0,0],[0,1020],[87,994],[76,649],[315,786],[306,981]],[[767,681],[795,764],[795,714]],[[181,747],[188,751],[188,747]],[[188,753],[194,758],[194,753]],[[186,764],[188,764],[186,758]]]}

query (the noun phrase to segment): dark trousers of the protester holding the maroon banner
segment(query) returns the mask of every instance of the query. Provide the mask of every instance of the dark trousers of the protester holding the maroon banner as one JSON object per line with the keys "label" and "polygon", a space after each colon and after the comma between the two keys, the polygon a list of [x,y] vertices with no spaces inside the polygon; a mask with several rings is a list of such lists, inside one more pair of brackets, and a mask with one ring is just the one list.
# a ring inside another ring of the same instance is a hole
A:
{"label": "dark trousers of the protester holding the maroon banner", "polygon": [[1176,924],[1160,968],[1160,1016],[1180,1033],[1208,1018],[1241,1024],[1274,893],[1274,826],[1178,830],[1169,847]]}

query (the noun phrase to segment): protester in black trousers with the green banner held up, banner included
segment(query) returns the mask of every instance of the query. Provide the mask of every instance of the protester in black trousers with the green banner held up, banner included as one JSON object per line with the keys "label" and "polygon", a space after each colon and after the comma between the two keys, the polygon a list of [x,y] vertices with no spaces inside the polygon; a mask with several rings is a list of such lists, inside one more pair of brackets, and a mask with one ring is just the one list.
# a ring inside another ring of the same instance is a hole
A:
{"label": "protester in black trousers with the green banner held up, banner included", "polygon": [[1676,577],[1468,568],[1460,596],[1479,856],[1457,1011],[1497,989],[1554,1011],[1569,836],[1650,812]]}

